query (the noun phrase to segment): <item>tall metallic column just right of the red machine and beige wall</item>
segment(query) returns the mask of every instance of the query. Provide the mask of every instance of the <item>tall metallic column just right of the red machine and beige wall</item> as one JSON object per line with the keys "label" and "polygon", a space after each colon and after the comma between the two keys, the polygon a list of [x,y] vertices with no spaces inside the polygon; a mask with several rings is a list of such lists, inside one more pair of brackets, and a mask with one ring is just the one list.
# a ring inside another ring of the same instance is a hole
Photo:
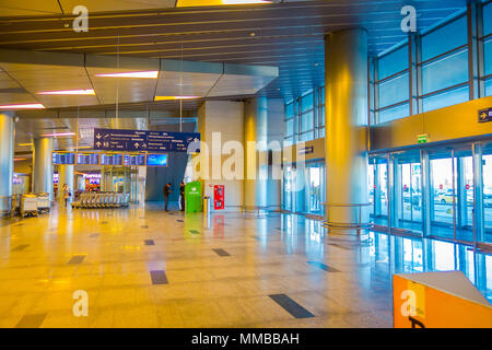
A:
{"label": "tall metallic column just right of the red machine and beige wall", "polygon": [[[267,203],[267,97],[247,100],[244,107],[244,147],[245,147],[245,179],[244,205],[266,206]],[[247,142],[256,142],[256,151],[248,149]],[[259,156],[261,154],[261,156]],[[251,175],[255,178],[250,178]],[[248,176],[249,175],[249,176]]]}

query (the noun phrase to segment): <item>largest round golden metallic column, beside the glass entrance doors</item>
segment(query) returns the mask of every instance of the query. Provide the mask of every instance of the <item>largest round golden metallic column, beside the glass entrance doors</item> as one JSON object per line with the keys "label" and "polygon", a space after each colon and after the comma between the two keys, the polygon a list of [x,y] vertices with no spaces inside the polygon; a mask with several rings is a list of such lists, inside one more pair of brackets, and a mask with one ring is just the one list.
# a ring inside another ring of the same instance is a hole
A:
{"label": "largest round golden metallic column, beside the glass entrance doors", "polygon": [[[327,202],[367,202],[367,32],[344,30],[325,36]],[[368,222],[363,207],[362,222]],[[332,223],[354,223],[359,211],[328,207]]]}

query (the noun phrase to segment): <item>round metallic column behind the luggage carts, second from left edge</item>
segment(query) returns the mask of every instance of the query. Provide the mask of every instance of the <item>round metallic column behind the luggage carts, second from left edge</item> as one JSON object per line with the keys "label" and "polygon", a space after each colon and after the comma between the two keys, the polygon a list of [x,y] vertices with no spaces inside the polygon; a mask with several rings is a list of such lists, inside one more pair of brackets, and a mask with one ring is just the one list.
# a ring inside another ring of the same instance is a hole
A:
{"label": "round metallic column behind the luggage carts, second from left edge", "polygon": [[52,139],[34,139],[33,192],[49,194],[52,200]]}

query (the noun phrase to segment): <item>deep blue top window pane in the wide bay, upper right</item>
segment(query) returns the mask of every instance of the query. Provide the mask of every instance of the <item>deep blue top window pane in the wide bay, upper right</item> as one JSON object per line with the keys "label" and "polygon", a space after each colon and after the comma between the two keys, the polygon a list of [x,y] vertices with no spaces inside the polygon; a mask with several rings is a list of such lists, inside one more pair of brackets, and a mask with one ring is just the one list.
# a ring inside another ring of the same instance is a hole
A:
{"label": "deep blue top window pane in the wide bay, upper right", "polygon": [[468,42],[467,18],[459,19],[422,37],[422,61],[447,52]]}

